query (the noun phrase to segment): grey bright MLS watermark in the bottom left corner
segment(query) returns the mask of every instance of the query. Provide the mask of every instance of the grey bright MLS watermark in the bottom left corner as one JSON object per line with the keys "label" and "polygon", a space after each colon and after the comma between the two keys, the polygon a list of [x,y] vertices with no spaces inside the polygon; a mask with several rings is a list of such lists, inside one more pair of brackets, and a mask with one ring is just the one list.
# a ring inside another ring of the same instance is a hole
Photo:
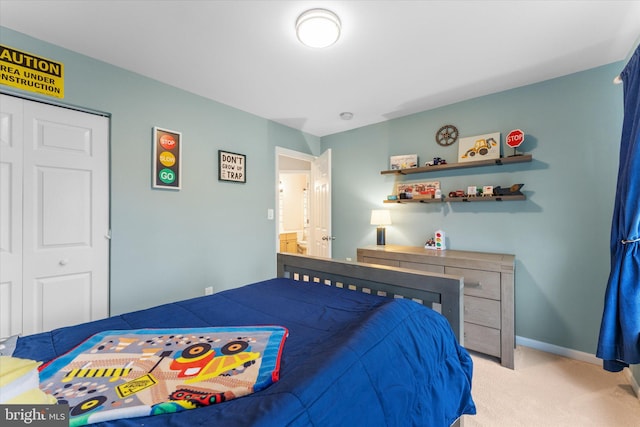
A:
{"label": "grey bright MLS watermark in the bottom left corner", "polygon": [[69,405],[0,405],[3,427],[68,427]]}

